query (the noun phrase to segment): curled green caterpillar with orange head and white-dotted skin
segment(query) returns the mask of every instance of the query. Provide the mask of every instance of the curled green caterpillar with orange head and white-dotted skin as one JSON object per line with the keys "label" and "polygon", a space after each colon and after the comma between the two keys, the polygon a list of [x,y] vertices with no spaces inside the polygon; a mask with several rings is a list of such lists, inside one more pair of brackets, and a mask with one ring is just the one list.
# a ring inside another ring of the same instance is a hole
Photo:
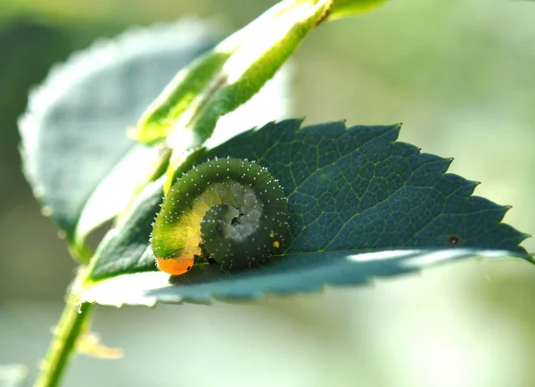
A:
{"label": "curled green caterpillar with orange head and white-dotted skin", "polygon": [[169,189],[152,251],[158,268],[175,276],[198,260],[251,268],[281,251],[288,216],[284,190],[268,169],[240,159],[207,161]]}

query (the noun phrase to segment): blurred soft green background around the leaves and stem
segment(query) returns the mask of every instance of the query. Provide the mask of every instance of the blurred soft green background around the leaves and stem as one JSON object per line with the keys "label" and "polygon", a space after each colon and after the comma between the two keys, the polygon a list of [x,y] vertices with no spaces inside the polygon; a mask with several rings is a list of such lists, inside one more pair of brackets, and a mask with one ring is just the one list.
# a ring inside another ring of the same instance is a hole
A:
{"label": "blurred soft green background around the leaves and stem", "polygon": [[[29,89],[130,26],[194,14],[238,29],[275,3],[0,0],[0,364],[35,375],[75,269],[21,174]],[[327,23],[294,56],[291,116],[402,121],[401,140],[455,157],[535,234],[533,26],[535,3],[507,0],[391,0]],[[535,268],[504,259],[247,305],[99,308],[95,330],[125,357],[79,356],[65,385],[528,387],[534,297]]]}

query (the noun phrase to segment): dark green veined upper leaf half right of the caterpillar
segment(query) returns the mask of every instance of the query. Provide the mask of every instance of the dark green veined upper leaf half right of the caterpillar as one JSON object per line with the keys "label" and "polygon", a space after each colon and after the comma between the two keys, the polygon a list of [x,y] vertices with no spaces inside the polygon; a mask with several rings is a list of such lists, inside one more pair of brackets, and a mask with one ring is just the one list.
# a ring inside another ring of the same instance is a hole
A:
{"label": "dark green veined upper leaf half right of the caterpillar", "polygon": [[287,252],[447,248],[452,236],[457,247],[525,252],[527,235],[500,223],[510,207],[471,196],[478,183],[447,174],[452,159],[396,142],[400,125],[299,127],[268,124],[208,153],[256,160],[280,180],[292,213]]}

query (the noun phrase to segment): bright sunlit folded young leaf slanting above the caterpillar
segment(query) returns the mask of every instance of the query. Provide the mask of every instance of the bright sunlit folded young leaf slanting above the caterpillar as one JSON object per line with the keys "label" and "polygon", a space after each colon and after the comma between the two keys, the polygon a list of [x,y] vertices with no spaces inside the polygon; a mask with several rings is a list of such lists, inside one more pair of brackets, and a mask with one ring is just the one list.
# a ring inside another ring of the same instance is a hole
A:
{"label": "bright sunlit folded young leaf slanting above the caterpillar", "polygon": [[152,144],[177,128],[169,142],[180,151],[185,144],[202,144],[219,117],[248,101],[275,75],[329,4],[284,1],[226,38],[177,73],[144,112],[135,138]]}

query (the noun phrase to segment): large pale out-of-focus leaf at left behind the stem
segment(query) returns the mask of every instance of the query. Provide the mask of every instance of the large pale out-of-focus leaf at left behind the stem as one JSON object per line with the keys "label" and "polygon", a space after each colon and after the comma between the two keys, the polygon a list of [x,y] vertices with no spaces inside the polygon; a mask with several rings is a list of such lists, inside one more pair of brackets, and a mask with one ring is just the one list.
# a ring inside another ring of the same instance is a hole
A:
{"label": "large pale out-of-focus leaf at left behind the stem", "polygon": [[[30,95],[20,120],[24,170],[78,258],[90,254],[86,235],[124,208],[157,158],[158,150],[128,139],[126,128],[218,34],[193,20],[132,30],[73,55]],[[136,157],[123,160],[128,153]],[[103,180],[96,205],[86,208]]]}

